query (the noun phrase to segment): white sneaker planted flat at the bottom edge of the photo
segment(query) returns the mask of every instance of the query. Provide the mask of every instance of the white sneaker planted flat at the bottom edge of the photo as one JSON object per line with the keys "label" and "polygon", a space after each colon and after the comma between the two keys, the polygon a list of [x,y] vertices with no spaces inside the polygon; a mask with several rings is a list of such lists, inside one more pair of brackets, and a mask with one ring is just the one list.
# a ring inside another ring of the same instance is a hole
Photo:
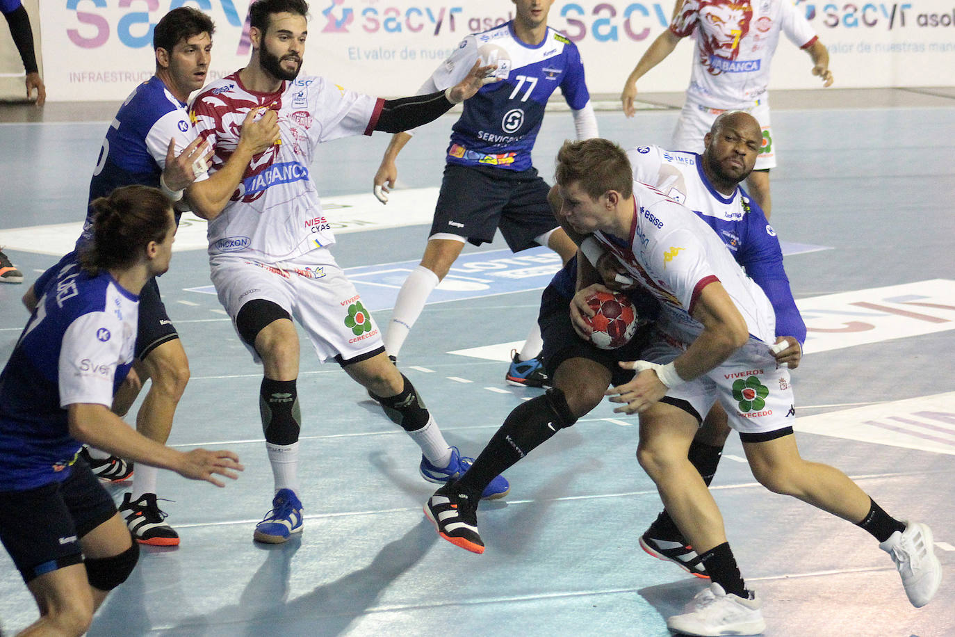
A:
{"label": "white sneaker planted flat at the bottom edge of the photo", "polygon": [[713,583],[696,593],[683,615],[673,615],[667,627],[685,635],[717,637],[718,635],[758,635],[766,629],[762,604],[753,599],[727,595],[723,586]]}

